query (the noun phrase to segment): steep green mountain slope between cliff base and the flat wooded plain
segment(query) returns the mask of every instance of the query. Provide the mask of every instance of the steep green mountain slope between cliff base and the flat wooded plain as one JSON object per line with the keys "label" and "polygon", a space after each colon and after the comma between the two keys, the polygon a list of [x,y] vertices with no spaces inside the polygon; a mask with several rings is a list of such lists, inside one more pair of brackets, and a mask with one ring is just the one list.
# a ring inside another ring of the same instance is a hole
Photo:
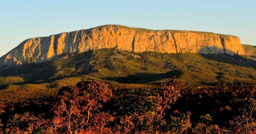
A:
{"label": "steep green mountain slope between cliff base and the flat wooded plain", "polygon": [[[134,53],[112,48],[63,54],[57,58],[2,68],[0,76],[18,76],[25,81],[86,76],[122,83],[148,83],[174,75],[191,83],[241,82],[256,78],[256,61],[238,55]],[[134,79],[137,76],[141,79]]]}

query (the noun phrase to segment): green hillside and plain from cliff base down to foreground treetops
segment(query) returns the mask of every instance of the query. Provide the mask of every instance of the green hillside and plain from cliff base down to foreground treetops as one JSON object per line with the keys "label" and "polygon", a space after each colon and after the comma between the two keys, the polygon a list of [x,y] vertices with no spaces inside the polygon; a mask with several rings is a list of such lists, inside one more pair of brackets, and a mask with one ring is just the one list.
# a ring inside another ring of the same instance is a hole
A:
{"label": "green hillside and plain from cliff base down to foreground treetops", "polygon": [[[83,79],[131,87],[154,85],[175,75],[189,85],[255,83],[255,69],[256,61],[239,55],[134,53],[116,48],[98,49],[63,54],[44,63],[1,68],[0,93],[3,95],[0,101],[21,103],[24,98],[42,100],[56,95],[60,87]],[[6,100],[9,98],[12,99]]]}

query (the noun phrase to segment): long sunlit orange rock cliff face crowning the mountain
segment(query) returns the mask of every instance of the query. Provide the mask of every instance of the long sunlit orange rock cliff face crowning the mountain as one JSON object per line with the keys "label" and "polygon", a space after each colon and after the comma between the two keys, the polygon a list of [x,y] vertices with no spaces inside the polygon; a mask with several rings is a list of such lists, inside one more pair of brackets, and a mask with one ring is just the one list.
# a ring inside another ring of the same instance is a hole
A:
{"label": "long sunlit orange rock cliff face crowning the mountain", "polygon": [[232,35],[184,30],[148,30],[120,25],[27,39],[0,58],[0,64],[44,62],[63,53],[113,48],[160,53],[245,55],[240,39]]}

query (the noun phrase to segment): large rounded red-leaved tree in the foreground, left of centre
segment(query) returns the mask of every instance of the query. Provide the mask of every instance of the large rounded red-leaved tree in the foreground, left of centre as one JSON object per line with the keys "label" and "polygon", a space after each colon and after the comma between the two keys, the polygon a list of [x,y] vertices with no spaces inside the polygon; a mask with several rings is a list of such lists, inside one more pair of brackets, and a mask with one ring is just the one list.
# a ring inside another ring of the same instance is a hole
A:
{"label": "large rounded red-leaved tree in the foreground, left of centre", "polygon": [[54,132],[83,133],[86,126],[95,123],[92,113],[111,97],[108,85],[100,81],[81,81],[76,86],[62,87],[53,108]]}

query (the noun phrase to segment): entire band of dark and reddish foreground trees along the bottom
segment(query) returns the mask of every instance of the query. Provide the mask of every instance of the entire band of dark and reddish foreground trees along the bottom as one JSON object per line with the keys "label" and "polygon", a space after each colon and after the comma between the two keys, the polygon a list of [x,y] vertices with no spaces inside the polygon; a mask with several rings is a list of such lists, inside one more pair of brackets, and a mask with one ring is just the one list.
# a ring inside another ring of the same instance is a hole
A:
{"label": "entire band of dark and reddish foreground trees along the bottom", "polygon": [[[51,109],[49,113],[13,114],[0,124],[0,133],[254,134],[256,133],[254,89],[251,90],[252,92],[244,91],[251,98],[242,98],[246,95],[240,93],[242,89],[238,90],[220,92],[201,87],[184,90],[184,85],[174,78],[163,83],[161,88],[156,90],[147,88],[123,90],[118,97],[113,97],[112,90],[104,82],[81,81],[76,86],[62,87],[53,104],[49,106]],[[227,103],[233,104],[227,101],[230,100],[228,96],[239,98],[234,99],[238,109],[226,125],[220,126],[212,115],[234,110],[227,105]],[[189,105],[197,106],[193,103],[197,103],[198,106],[205,103],[204,105],[214,107],[214,110],[189,107]],[[4,105],[0,105],[0,117],[3,118]],[[196,115],[198,113],[202,115]]]}

